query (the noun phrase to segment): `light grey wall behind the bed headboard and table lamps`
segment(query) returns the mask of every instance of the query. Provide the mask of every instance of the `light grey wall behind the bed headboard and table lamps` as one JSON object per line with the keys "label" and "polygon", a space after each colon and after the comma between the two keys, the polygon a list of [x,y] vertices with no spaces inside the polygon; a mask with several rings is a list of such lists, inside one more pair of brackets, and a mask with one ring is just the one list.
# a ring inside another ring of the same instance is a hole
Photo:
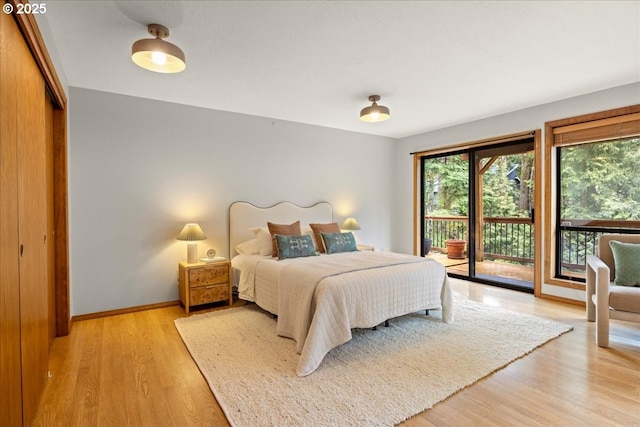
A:
{"label": "light grey wall behind the bed headboard and table lamps", "polygon": [[333,204],[388,248],[396,141],[70,88],[72,315],[178,299],[185,222],[228,256],[236,200]]}

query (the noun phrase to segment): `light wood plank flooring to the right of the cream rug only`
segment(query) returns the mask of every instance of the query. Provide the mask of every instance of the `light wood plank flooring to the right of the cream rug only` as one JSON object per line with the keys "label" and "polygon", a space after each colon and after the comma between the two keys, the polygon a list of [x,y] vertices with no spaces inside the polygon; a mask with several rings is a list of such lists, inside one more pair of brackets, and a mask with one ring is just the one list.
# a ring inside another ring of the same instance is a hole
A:
{"label": "light wood plank flooring to the right of the cream rug only", "polygon": [[[632,324],[613,322],[614,348],[602,349],[595,345],[594,324],[586,322],[583,308],[463,281],[455,281],[454,289],[476,301],[486,300],[510,310],[572,324],[575,330],[403,425],[636,425],[640,422],[637,326],[634,341],[629,343],[618,335]],[[635,365],[635,369],[630,365]],[[618,398],[619,394],[624,394],[626,399]],[[513,413],[507,408],[516,411]],[[447,422],[450,420],[454,422]]]}

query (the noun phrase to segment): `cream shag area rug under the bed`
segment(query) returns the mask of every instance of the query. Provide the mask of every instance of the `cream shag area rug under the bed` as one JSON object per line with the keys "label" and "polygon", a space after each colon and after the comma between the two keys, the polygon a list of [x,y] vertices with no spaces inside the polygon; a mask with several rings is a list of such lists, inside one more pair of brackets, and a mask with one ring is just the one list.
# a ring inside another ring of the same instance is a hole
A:
{"label": "cream shag area rug under the bed", "polygon": [[439,311],[358,329],[320,367],[296,376],[295,343],[255,305],[180,318],[178,332],[234,426],[388,426],[572,329],[461,297]]}

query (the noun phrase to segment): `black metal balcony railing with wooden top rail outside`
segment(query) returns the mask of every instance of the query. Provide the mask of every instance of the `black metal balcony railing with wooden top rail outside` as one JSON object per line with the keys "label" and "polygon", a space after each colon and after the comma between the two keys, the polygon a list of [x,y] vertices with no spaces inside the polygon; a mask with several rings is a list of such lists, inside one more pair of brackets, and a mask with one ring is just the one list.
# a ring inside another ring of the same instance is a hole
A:
{"label": "black metal balcony railing with wooden top rail outside", "polygon": [[[432,239],[432,248],[444,250],[447,239],[468,240],[468,218],[427,215],[425,230],[425,238]],[[604,233],[640,234],[640,222],[564,220],[559,233],[560,271],[557,273],[561,277],[584,278],[587,255],[597,253],[598,238]],[[485,217],[482,251],[476,254],[478,259],[532,264],[534,236],[531,219]]]}

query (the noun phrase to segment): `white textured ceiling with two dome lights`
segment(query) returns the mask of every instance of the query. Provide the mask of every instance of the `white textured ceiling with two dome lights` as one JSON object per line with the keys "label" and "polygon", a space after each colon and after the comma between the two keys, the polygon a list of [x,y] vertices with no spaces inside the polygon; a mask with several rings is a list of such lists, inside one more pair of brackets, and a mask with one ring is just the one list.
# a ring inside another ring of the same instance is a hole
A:
{"label": "white textured ceiling with two dome lights", "polygon": [[[70,86],[395,138],[640,81],[638,1],[49,0],[42,18]],[[131,61],[152,22],[183,73]],[[360,122],[371,94],[391,119]]]}

